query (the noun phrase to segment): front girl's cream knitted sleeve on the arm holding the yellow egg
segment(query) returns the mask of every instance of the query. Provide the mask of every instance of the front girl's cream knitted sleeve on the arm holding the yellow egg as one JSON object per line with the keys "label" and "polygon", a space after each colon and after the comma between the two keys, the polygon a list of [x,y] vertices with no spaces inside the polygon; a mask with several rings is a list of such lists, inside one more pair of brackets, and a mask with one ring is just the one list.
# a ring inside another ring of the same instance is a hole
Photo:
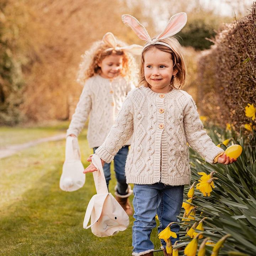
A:
{"label": "front girl's cream knitted sleeve on the arm holding the yellow egg", "polygon": [[203,124],[192,97],[184,108],[183,123],[188,144],[207,162],[213,164],[214,158],[224,150],[217,147],[203,129]]}

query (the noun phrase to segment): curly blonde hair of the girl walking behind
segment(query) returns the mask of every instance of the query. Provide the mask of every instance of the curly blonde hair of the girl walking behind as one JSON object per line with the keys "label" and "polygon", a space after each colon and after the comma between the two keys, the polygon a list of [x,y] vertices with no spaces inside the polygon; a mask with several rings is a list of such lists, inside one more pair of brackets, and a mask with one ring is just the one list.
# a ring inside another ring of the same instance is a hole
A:
{"label": "curly blonde hair of the girl walking behind", "polygon": [[[123,47],[126,44],[122,41],[117,40],[117,47]],[[98,66],[104,58],[111,54],[122,55],[123,63],[121,76],[126,78],[128,81],[136,82],[135,73],[137,71],[137,66],[135,64],[135,59],[133,56],[126,52],[125,50],[107,50],[111,46],[104,43],[103,41],[96,41],[92,44],[91,48],[82,55],[82,61],[79,64],[79,70],[76,81],[84,85],[85,81],[92,76],[100,74],[101,68]]]}

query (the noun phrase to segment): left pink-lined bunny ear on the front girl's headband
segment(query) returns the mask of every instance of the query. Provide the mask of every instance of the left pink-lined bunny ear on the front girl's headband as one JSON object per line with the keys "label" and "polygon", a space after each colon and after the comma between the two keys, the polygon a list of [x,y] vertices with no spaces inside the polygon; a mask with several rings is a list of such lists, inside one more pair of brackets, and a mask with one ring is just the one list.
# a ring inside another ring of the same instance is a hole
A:
{"label": "left pink-lined bunny ear on the front girl's headband", "polygon": [[124,14],[122,15],[122,21],[127,26],[132,28],[132,30],[137,34],[137,36],[144,40],[144,41],[150,41],[151,38],[146,31],[145,27],[139,23],[137,19],[135,19],[133,16]]}

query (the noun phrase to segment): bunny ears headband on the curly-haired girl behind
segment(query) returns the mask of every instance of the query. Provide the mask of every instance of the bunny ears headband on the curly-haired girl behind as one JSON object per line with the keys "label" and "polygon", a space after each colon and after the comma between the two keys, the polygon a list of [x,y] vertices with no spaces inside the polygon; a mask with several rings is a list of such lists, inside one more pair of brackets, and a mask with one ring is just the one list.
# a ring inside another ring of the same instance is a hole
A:
{"label": "bunny ears headband on the curly-haired girl behind", "polygon": [[110,48],[106,49],[106,51],[108,51],[108,50],[125,50],[129,53],[140,55],[140,53],[142,52],[142,48],[143,48],[142,46],[140,46],[138,44],[132,44],[130,46],[125,46],[125,47],[117,47],[117,40],[111,32],[107,32],[103,36],[102,41],[110,46]]}

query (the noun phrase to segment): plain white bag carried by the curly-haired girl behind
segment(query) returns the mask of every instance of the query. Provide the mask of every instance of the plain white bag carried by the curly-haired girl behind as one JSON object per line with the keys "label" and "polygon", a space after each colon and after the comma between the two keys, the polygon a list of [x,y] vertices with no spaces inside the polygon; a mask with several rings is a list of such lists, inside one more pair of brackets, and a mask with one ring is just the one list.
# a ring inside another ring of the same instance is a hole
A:
{"label": "plain white bag carried by the curly-haired girl behind", "polygon": [[79,190],[85,183],[84,166],[81,162],[81,154],[78,138],[68,136],[66,138],[65,161],[60,177],[60,188],[63,191]]}

